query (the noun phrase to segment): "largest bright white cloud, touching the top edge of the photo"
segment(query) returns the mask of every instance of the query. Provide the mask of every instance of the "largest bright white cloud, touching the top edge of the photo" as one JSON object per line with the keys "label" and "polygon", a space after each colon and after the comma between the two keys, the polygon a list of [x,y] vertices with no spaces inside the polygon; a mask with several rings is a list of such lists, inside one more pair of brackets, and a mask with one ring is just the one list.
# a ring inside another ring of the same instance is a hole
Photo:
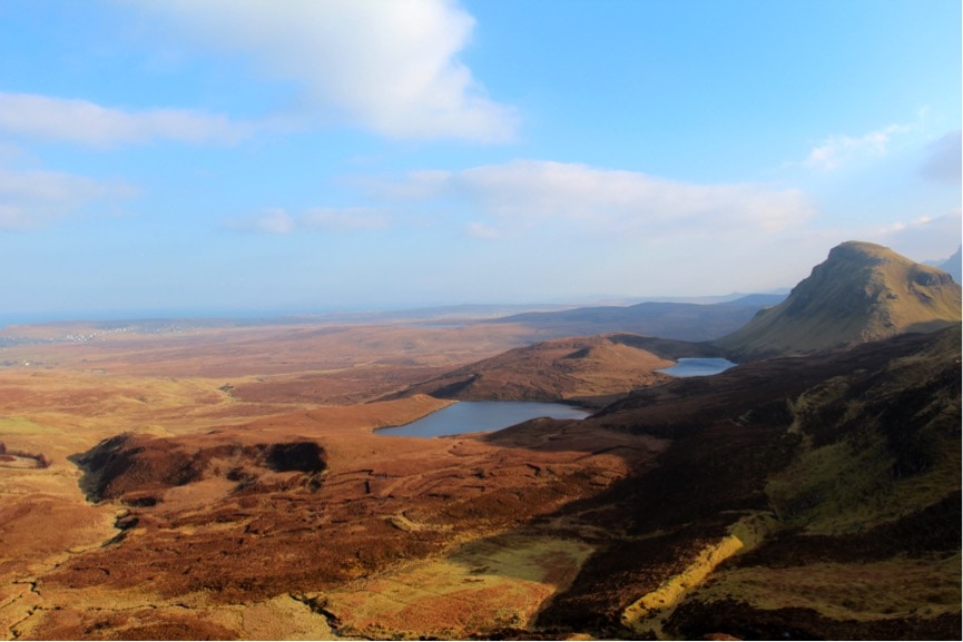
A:
{"label": "largest bright white cloud, touching the top edge of the photo", "polygon": [[474,20],[451,0],[143,0],[204,47],[303,90],[302,117],[400,138],[504,141],[515,113],[458,59]]}

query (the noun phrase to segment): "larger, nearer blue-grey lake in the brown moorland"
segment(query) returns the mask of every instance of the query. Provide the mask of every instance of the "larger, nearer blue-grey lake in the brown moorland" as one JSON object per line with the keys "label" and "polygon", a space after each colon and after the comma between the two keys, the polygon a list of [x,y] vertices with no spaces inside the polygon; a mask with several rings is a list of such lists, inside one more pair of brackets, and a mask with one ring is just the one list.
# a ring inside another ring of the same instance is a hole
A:
{"label": "larger, nearer blue-grey lake in the brown moorland", "polygon": [[535,417],[583,419],[589,412],[567,404],[542,402],[459,402],[416,422],[381,428],[379,435],[440,437],[461,433],[490,433]]}

